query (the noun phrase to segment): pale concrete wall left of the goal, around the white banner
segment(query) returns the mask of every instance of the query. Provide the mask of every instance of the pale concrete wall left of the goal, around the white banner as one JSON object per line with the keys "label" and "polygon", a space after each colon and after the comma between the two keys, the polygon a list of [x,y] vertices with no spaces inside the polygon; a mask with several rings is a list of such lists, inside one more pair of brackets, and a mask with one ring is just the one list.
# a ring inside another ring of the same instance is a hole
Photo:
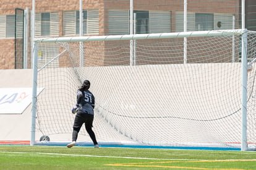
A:
{"label": "pale concrete wall left of the goal, around the white banner", "polygon": [[[32,70],[0,70],[0,88],[32,88]],[[31,105],[22,114],[0,114],[0,140],[30,140]]]}

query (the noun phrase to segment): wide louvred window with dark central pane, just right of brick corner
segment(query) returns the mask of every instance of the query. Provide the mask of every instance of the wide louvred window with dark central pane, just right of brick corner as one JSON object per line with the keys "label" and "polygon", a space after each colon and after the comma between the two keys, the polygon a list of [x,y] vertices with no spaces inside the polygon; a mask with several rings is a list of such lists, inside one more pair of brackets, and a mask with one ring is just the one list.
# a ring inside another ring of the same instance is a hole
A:
{"label": "wide louvred window with dark central pane, just right of brick corner", "polygon": [[[129,11],[111,10],[108,12],[109,35],[129,34]],[[136,30],[134,33],[171,32],[170,11],[134,11]]]}

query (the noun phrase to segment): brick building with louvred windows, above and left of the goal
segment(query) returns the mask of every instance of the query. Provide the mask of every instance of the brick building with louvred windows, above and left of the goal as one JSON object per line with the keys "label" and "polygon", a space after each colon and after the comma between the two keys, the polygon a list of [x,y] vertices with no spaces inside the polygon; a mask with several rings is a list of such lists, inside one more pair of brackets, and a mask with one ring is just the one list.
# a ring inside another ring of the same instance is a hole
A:
{"label": "brick building with louvred windows, above and left of the goal", "polygon": [[[35,38],[79,35],[79,1],[35,1]],[[246,27],[256,30],[256,2],[246,1]],[[23,9],[28,9],[23,14]],[[130,1],[83,1],[83,35],[129,34]],[[23,25],[31,30],[32,1],[0,2],[0,69],[30,68],[30,31],[23,45]],[[15,15],[16,14],[16,15]],[[179,0],[134,1],[135,33],[182,32],[184,4]],[[241,28],[241,1],[187,1],[187,31]],[[23,15],[27,22],[23,22]],[[26,17],[25,17],[26,18]],[[234,20],[235,19],[235,20]],[[23,49],[27,46],[27,57]],[[26,58],[24,61],[24,58]],[[25,62],[25,64],[24,64]],[[25,66],[26,65],[26,66]],[[103,64],[104,65],[104,64]]]}

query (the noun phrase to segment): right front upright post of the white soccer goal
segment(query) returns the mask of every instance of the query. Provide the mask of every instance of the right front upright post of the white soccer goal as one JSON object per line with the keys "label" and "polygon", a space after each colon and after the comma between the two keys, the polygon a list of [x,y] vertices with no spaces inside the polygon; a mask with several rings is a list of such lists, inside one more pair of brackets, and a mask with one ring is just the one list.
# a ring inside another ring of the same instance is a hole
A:
{"label": "right front upright post of the white soccer goal", "polygon": [[242,141],[241,150],[247,150],[247,29],[242,34]]}

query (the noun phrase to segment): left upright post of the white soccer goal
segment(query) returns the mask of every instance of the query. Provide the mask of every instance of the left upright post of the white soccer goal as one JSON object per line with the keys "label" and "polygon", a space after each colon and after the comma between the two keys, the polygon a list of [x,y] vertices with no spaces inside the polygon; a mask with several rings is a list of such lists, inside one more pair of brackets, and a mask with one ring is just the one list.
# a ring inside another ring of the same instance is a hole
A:
{"label": "left upright post of the white soccer goal", "polygon": [[37,61],[38,61],[38,46],[37,43],[33,49],[33,88],[32,88],[32,115],[31,115],[31,138],[30,145],[35,145],[35,120],[36,120],[36,88],[37,88]]}

